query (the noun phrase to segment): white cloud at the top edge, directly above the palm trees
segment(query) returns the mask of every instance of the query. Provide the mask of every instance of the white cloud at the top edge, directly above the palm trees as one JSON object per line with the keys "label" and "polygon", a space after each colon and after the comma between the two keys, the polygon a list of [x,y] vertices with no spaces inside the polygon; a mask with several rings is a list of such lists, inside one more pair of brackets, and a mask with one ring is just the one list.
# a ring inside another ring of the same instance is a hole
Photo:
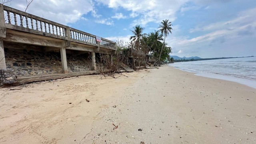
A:
{"label": "white cloud at the top edge, directly above the palm trees", "polygon": [[159,23],[164,19],[173,22],[176,12],[189,0],[97,0],[109,8],[124,8],[131,11],[130,17],[137,18],[130,26],[146,26],[149,22]]}

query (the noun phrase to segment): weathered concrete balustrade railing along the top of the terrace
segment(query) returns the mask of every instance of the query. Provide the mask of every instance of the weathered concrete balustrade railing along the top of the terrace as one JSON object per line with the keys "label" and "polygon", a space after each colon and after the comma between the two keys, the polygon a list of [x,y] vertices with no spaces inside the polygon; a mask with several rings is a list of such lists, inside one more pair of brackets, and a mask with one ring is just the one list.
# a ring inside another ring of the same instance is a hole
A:
{"label": "weathered concrete balustrade railing along the top of the terrace", "polygon": [[101,42],[97,42],[96,36],[93,34],[76,30],[8,6],[3,7],[6,14],[6,28],[116,50],[116,43],[113,41],[101,38]]}

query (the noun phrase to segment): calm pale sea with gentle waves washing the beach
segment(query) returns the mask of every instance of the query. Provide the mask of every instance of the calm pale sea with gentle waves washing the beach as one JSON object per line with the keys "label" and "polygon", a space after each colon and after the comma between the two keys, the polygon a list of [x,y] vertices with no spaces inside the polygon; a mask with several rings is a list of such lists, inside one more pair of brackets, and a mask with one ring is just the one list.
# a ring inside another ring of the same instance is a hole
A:
{"label": "calm pale sea with gentle waves washing the beach", "polygon": [[256,88],[256,57],[175,62],[168,64],[197,76],[217,78]]}

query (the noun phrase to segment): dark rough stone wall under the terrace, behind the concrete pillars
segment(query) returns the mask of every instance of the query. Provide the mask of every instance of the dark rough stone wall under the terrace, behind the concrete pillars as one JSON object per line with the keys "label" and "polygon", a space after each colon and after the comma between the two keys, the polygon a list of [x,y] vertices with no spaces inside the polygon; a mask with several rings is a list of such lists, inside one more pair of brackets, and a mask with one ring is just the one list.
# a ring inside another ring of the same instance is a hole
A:
{"label": "dark rough stone wall under the terrace, behind the concrete pillars", "polygon": [[[4,48],[6,68],[16,76],[62,73],[60,52]],[[92,70],[90,54],[67,55],[68,73]]]}

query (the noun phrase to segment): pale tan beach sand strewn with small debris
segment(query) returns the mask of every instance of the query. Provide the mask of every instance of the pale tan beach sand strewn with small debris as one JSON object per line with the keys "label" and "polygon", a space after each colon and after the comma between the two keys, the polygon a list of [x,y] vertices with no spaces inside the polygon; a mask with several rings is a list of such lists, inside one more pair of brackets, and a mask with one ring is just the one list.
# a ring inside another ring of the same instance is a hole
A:
{"label": "pale tan beach sand strewn with small debris", "polygon": [[256,89],[170,66],[124,75],[0,89],[0,144],[256,143]]}

